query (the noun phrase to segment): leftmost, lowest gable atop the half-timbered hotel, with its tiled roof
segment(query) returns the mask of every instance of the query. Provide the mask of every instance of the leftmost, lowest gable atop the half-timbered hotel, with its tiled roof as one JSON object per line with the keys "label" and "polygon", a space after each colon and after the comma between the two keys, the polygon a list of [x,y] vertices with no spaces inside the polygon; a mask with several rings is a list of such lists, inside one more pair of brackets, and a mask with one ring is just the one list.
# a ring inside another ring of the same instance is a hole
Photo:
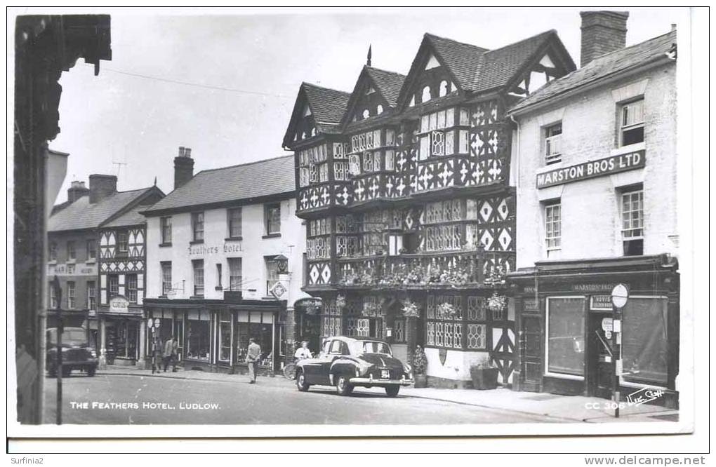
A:
{"label": "leftmost, lowest gable atop the half-timbered hotel, with its tiled roof", "polygon": [[336,89],[302,83],[284,134],[284,147],[293,148],[319,134],[339,133],[350,96]]}

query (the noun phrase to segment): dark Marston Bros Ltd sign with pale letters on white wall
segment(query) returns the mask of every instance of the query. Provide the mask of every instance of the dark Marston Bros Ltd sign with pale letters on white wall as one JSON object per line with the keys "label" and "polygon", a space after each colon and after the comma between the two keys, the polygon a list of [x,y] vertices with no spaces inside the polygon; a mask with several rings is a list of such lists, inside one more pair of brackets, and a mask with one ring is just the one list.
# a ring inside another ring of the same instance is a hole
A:
{"label": "dark Marston Bros Ltd sign with pale letters on white wall", "polygon": [[640,169],[644,167],[647,157],[644,151],[629,152],[619,156],[606,157],[604,159],[582,162],[581,164],[550,170],[537,174],[537,187],[546,188],[554,185],[585,180],[601,175],[616,174],[626,170]]}

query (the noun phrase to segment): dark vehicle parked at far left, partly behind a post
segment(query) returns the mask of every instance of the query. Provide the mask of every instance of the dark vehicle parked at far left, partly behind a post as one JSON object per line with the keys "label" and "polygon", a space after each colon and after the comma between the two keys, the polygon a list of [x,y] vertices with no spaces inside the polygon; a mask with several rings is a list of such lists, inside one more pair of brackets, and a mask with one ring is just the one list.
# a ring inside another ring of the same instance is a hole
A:
{"label": "dark vehicle parked at far left, partly behind a post", "polygon": [[[97,352],[87,342],[84,328],[64,328],[62,331],[62,376],[69,376],[72,370],[82,370],[88,376],[97,371]],[[47,330],[47,371],[57,376],[57,328]]]}

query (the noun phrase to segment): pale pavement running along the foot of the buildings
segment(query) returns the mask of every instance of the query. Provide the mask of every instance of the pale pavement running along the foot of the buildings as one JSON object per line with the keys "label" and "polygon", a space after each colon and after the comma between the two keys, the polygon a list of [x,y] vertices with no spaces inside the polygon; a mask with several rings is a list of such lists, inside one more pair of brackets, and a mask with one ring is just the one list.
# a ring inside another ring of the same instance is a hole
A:
{"label": "pale pavement running along the foot of the buildings", "polygon": [[[127,375],[142,378],[172,378],[198,381],[223,381],[236,383],[247,380],[247,375],[210,373],[199,370],[178,369],[176,373],[152,373],[136,367],[108,366],[97,370],[97,375]],[[258,378],[256,387],[289,388],[293,381],[280,375]],[[317,386],[316,388],[321,388]],[[314,390],[314,388],[311,388]],[[384,394],[382,388],[357,388],[356,393]],[[657,405],[627,405],[620,408],[619,418],[614,418],[614,409],[610,400],[585,397],[581,395],[557,395],[548,393],[528,393],[513,391],[509,388],[493,390],[412,388],[400,389],[403,397],[453,403],[474,408],[497,409],[513,413],[515,416],[539,416],[554,422],[587,423],[624,423],[624,422],[664,422],[678,421],[679,412]]]}

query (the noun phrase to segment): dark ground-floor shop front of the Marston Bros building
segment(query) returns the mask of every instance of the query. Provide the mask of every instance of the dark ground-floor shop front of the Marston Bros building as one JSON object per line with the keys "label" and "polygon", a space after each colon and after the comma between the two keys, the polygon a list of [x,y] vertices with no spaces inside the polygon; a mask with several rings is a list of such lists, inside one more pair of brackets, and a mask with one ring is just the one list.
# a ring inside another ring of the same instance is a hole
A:
{"label": "dark ground-floor shop front of the Marston Bros building", "polygon": [[508,275],[520,335],[513,388],[611,398],[611,290],[629,287],[621,318],[620,392],[661,390],[677,407],[679,274],[667,255],[538,262]]}

